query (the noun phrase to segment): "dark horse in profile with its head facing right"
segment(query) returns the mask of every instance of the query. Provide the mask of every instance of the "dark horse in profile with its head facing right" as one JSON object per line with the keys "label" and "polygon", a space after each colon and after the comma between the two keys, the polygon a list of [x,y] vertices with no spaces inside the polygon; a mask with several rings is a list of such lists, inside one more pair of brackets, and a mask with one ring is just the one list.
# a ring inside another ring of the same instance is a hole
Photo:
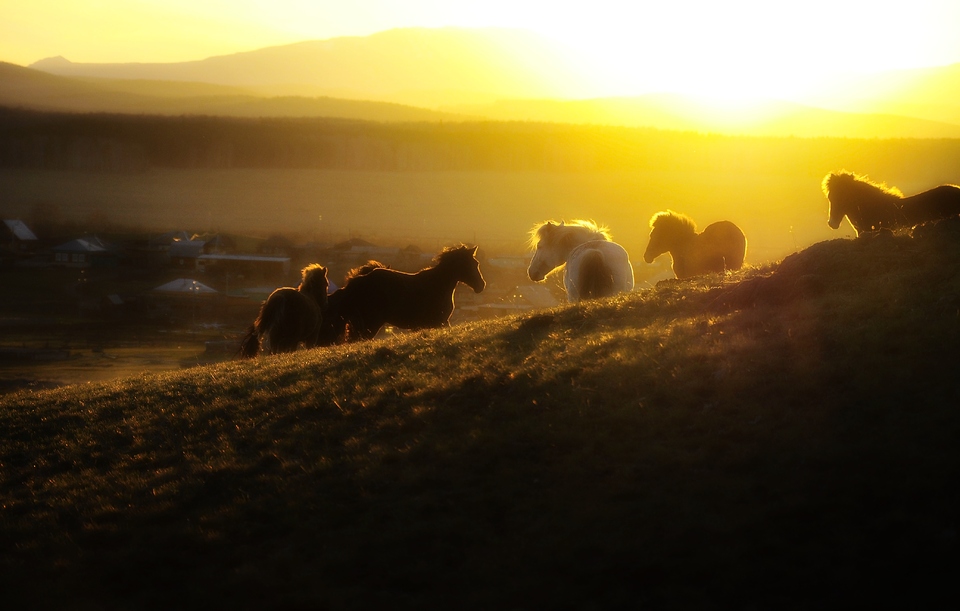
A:
{"label": "dark horse in profile with its head facing right", "polygon": [[331,295],[332,337],[372,339],[386,324],[410,330],[450,326],[457,284],[475,293],[486,287],[476,254],[477,247],[461,245],[444,249],[433,266],[416,273],[374,267],[349,278]]}

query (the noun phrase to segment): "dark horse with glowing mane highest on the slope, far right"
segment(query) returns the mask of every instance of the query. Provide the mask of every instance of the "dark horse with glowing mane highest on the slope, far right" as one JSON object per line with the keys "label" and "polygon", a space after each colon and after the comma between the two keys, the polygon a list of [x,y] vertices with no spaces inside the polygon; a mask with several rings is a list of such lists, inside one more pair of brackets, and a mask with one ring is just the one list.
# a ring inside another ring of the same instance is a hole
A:
{"label": "dark horse with glowing mane highest on the slope, far right", "polygon": [[830,204],[827,224],[838,229],[846,216],[857,235],[913,227],[960,214],[960,187],[956,185],[940,185],[905,197],[896,187],[866,176],[833,172],[827,174],[821,187]]}

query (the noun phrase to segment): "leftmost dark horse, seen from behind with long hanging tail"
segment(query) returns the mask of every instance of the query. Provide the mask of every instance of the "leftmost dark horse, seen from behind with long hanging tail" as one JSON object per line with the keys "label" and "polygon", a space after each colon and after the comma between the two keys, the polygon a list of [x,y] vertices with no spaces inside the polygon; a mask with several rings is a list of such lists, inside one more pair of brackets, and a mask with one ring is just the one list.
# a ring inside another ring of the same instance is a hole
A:
{"label": "leftmost dark horse, seen from behind with long hanging tail", "polygon": [[300,286],[270,293],[260,314],[240,343],[241,358],[252,358],[261,347],[269,354],[293,352],[303,344],[317,345],[323,309],[327,305],[327,268],[318,263],[300,272]]}

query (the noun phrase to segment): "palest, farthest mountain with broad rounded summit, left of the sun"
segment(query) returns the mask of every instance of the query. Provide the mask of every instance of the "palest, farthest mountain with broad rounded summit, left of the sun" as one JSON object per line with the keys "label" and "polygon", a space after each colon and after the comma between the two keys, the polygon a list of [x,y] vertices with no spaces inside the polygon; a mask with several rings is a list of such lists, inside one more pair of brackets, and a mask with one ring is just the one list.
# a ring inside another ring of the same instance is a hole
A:
{"label": "palest, farthest mountain with broad rounded summit, left of the sun", "polygon": [[411,90],[566,98],[583,78],[565,67],[568,59],[559,46],[524,31],[403,28],[189,62],[84,64],[53,57],[29,67],[73,77],[293,86],[301,95],[350,92],[361,99]]}

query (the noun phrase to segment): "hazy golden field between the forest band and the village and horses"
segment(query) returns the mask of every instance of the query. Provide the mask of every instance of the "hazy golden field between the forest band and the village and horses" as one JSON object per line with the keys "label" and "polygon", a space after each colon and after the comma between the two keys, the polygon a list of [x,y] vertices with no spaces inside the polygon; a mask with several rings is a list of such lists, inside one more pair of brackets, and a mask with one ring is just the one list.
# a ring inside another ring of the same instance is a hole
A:
{"label": "hazy golden field between the forest band and the village and horses", "polygon": [[[816,179],[723,172],[364,172],[151,170],[138,174],[0,171],[7,214],[53,202],[65,217],[92,217],[155,232],[187,228],[304,241],[348,237],[437,247],[477,243],[525,252],[547,219],[594,219],[636,259],[647,222],[667,208],[702,226],[734,219],[759,263],[846,235],[826,225]],[[640,263],[642,265],[642,263]]]}

